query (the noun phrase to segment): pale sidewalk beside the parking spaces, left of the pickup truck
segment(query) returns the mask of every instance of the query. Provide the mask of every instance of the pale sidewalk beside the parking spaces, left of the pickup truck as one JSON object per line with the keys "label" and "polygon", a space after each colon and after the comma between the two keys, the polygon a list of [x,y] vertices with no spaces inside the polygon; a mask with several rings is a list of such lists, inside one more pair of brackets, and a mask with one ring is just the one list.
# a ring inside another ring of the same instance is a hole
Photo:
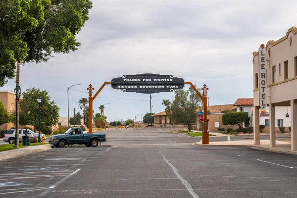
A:
{"label": "pale sidewalk beside the parking spaces, left of the pickup truck", "polygon": [[34,152],[41,152],[51,148],[51,145],[29,146],[26,148],[17,148],[0,152],[0,160],[10,159],[13,157],[24,156]]}

